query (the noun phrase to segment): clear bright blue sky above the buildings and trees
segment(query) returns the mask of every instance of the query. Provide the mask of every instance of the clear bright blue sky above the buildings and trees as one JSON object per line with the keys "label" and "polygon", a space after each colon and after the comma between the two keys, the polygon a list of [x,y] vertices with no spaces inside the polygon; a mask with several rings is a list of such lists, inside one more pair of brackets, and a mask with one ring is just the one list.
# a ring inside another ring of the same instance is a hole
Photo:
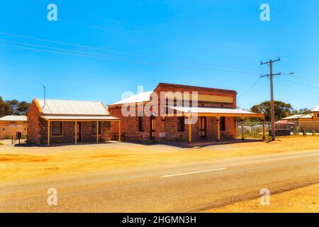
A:
{"label": "clear bright blue sky above the buildings and trees", "polygon": [[[50,3],[58,21],[47,21]],[[260,21],[262,3],[271,21]],[[1,0],[0,96],[31,101],[45,85],[50,99],[110,104],[138,85],[148,91],[169,82],[235,89],[237,105],[249,109],[269,99],[269,79],[257,82],[269,72],[260,61],[281,57],[274,72],[296,75],[275,79],[275,99],[312,109],[318,7],[317,0]]]}

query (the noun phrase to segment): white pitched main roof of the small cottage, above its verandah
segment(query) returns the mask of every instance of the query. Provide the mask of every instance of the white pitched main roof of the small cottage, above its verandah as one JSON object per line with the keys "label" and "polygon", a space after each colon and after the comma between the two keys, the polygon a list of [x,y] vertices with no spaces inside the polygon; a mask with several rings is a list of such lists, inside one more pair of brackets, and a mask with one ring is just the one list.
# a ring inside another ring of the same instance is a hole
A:
{"label": "white pitched main roof of the small cottage, above its verandah", "polygon": [[43,114],[109,115],[101,101],[36,99]]}

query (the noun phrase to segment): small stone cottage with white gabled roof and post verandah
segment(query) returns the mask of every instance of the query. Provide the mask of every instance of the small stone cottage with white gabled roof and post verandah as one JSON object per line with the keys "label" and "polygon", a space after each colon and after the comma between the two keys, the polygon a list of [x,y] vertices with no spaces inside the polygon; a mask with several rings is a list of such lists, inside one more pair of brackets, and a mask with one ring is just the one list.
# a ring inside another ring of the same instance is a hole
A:
{"label": "small stone cottage with white gabled roof and post verandah", "polygon": [[33,99],[28,111],[28,143],[111,140],[111,121],[120,119],[111,116],[101,101]]}

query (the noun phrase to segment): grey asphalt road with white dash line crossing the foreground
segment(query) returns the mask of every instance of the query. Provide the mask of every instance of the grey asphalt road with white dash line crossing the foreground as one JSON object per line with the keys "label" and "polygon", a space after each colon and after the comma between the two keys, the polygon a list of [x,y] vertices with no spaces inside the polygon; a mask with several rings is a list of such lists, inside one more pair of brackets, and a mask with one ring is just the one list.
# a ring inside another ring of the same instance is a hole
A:
{"label": "grey asphalt road with white dash line crossing the foreground", "polygon": [[[0,211],[188,212],[319,183],[319,150],[0,184]],[[57,206],[47,189],[57,189]]]}

